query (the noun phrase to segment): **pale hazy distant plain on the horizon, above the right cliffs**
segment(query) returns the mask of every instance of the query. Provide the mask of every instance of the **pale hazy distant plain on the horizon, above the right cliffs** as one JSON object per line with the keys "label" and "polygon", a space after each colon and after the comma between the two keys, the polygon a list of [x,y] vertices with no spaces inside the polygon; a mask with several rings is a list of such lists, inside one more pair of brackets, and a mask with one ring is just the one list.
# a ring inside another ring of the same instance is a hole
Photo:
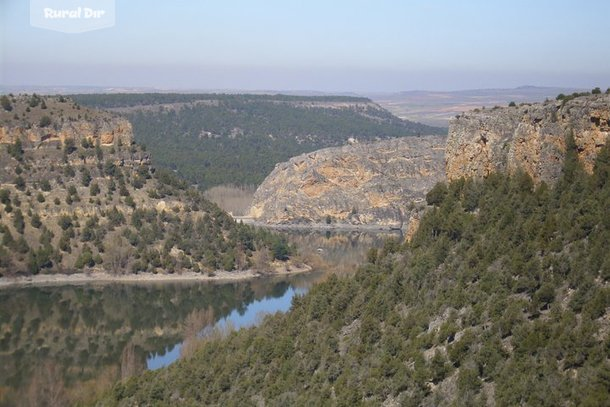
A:
{"label": "pale hazy distant plain on the horizon, above the right cliffs", "polygon": [[471,89],[454,92],[409,91],[370,97],[405,120],[446,127],[453,116],[476,108],[506,106],[510,102],[543,102],[560,93],[590,89],[521,86],[514,89]]}

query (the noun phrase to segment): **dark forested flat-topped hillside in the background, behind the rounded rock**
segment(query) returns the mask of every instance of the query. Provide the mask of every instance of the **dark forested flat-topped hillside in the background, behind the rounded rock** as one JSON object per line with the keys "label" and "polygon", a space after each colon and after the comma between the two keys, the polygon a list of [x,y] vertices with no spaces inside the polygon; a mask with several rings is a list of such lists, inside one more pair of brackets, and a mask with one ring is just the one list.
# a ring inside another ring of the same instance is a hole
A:
{"label": "dark forested flat-topped hillside in the background, behind the rounded rock", "polygon": [[373,141],[445,129],[404,121],[366,98],[347,96],[73,95],[123,114],[153,164],[207,189],[258,185],[277,163],[349,139]]}

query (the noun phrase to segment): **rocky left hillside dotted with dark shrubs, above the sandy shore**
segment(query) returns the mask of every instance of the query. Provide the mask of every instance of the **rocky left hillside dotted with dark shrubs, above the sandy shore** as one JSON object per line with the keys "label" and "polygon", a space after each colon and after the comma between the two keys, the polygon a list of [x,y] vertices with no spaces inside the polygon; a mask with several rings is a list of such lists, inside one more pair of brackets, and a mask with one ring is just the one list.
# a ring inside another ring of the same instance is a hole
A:
{"label": "rocky left hillside dotted with dark shrubs, above the sandy shore", "polygon": [[127,120],[62,96],[2,97],[0,183],[2,276],[213,274],[262,269],[290,251],[151,167]]}

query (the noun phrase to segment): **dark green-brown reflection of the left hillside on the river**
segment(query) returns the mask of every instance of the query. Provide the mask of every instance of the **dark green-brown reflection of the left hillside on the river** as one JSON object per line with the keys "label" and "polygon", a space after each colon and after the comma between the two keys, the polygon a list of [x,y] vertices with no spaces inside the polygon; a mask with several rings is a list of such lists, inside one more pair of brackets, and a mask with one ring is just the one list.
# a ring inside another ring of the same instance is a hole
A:
{"label": "dark green-brown reflection of the left hillside on the river", "polygon": [[0,406],[59,396],[86,404],[100,386],[145,369],[149,353],[289,286],[261,279],[0,290]]}

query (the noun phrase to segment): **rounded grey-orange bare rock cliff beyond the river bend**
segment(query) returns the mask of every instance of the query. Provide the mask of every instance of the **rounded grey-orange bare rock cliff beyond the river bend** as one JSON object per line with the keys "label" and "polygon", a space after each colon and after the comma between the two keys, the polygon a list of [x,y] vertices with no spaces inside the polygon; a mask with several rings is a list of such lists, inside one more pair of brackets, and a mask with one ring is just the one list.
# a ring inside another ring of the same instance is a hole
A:
{"label": "rounded grey-orange bare rock cliff beyond the river bend", "polygon": [[260,185],[250,215],[270,224],[401,227],[411,217],[407,208],[444,178],[444,142],[404,137],[294,157]]}

